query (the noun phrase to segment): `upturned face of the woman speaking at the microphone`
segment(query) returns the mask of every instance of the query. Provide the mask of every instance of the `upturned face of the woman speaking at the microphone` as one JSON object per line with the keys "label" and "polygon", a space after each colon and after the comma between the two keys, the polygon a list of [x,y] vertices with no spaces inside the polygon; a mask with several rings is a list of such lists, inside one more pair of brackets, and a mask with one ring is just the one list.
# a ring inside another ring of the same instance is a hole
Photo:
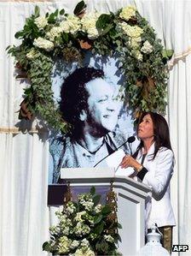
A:
{"label": "upturned face of the woman speaking at the microphone", "polygon": [[142,140],[153,140],[153,120],[148,114],[142,118],[138,127],[138,137]]}

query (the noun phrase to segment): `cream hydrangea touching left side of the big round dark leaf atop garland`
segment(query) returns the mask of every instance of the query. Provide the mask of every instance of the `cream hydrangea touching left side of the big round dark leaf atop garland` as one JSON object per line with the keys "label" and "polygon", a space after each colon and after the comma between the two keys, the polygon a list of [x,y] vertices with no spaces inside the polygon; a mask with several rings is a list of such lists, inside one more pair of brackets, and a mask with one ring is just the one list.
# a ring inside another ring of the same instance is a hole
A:
{"label": "cream hydrangea touching left side of the big round dark leaf atop garland", "polygon": [[96,21],[99,16],[98,13],[89,13],[81,19],[82,31],[88,33],[89,39],[96,39],[99,36],[99,31],[96,28]]}

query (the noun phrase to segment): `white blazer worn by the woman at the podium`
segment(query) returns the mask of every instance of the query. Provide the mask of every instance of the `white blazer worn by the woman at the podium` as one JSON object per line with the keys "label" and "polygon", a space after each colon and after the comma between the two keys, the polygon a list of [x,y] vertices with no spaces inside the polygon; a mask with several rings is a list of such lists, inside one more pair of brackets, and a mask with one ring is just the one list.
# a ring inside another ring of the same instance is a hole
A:
{"label": "white blazer worn by the woman at the podium", "polygon": [[[158,227],[176,225],[170,197],[170,181],[175,162],[174,154],[170,149],[161,147],[152,160],[153,152],[154,143],[149,148],[142,164],[148,170],[142,183],[152,188],[152,197],[148,196],[146,207],[148,229],[154,223],[157,223]],[[142,162],[142,152],[138,153],[136,160],[139,163]]]}

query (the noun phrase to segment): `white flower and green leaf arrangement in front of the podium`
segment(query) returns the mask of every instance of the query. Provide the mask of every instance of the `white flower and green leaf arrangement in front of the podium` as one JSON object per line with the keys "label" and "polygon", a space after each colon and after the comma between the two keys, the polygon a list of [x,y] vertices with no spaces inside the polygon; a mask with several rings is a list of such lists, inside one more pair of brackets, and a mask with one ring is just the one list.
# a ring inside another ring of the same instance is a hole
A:
{"label": "white flower and green leaf arrangement in front of the podium", "polygon": [[79,194],[77,202],[66,200],[63,210],[56,211],[58,223],[49,228],[43,250],[54,255],[121,255],[116,195],[110,190],[104,205],[100,199],[92,187],[90,193]]}

